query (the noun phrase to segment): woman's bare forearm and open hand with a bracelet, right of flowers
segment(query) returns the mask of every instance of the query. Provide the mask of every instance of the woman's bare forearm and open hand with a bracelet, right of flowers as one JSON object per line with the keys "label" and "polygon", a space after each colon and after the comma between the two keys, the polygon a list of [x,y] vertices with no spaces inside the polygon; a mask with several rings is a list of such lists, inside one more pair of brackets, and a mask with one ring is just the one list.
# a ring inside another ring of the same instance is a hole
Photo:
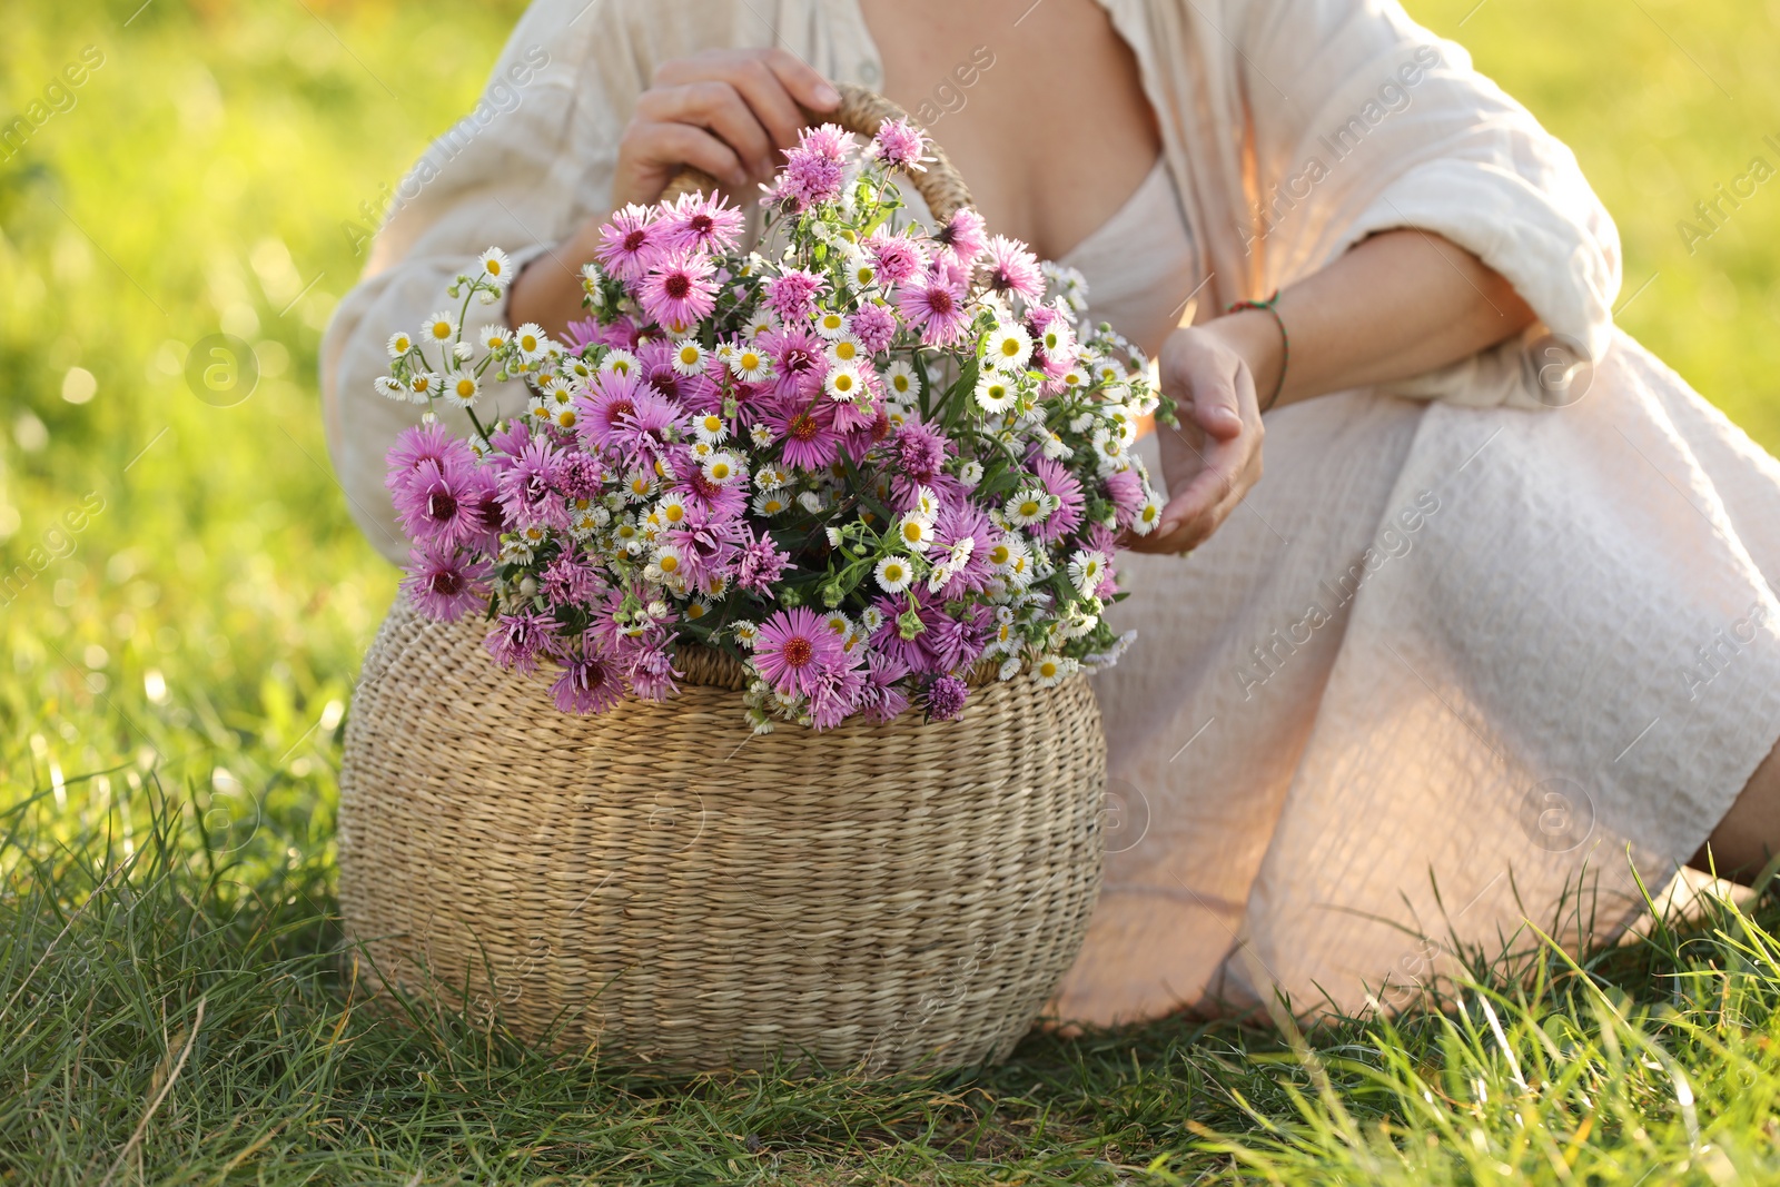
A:
{"label": "woman's bare forearm and open hand with a bracelet, right of flowers", "polygon": [[[1159,425],[1169,500],[1137,552],[1203,543],[1260,479],[1258,399],[1273,408],[1456,363],[1533,324],[1533,310],[1477,256],[1417,230],[1383,231],[1280,292],[1274,322],[1241,310],[1177,329],[1162,345],[1162,390],[1180,427]],[[1290,358],[1280,324],[1290,335]]]}

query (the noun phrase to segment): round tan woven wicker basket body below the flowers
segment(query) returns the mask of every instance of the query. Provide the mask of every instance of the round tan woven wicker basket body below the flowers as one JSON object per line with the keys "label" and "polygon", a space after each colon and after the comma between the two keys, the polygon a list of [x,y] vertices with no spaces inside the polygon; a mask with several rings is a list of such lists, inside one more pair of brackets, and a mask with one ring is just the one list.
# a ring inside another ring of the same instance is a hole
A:
{"label": "round tan woven wicker basket body below the flowers", "polygon": [[404,989],[675,1070],[892,1071],[1006,1059],[1075,957],[1105,785],[1084,678],[751,737],[721,682],[559,714],[482,635],[397,602],[347,724],[340,902]]}

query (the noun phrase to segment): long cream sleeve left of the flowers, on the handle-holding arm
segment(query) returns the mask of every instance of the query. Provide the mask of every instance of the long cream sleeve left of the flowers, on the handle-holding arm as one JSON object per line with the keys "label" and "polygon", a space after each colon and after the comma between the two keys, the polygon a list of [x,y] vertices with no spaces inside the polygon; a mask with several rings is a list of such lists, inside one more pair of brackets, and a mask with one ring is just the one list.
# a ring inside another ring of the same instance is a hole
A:
{"label": "long cream sleeve left of the flowers, on the handle-holding arm", "polygon": [[[415,333],[431,311],[457,311],[445,288],[479,251],[552,267],[552,246],[605,210],[618,139],[648,68],[634,28],[605,0],[538,0],[520,20],[477,107],[445,130],[390,199],[358,287],[335,310],[320,351],[328,450],[352,516],[390,561],[408,559],[383,486],[384,452],[420,408],[374,390],[388,374],[384,342]],[[470,327],[504,322],[470,304]],[[523,408],[518,384],[484,388],[498,415]],[[468,434],[463,413],[443,413]]]}

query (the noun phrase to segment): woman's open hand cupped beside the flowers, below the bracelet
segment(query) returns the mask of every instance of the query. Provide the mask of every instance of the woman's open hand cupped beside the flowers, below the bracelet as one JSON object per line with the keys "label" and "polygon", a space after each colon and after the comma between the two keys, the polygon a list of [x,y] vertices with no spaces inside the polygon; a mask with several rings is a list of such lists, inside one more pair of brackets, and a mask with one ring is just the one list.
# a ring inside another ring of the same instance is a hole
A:
{"label": "woman's open hand cupped beside the flowers, below the bracelet", "polygon": [[1157,424],[1168,505],[1136,552],[1198,548],[1260,480],[1257,386],[1273,392],[1280,374],[1273,315],[1244,310],[1203,326],[1184,326],[1162,343],[1162,392],[1178,404],[1180,427]]}

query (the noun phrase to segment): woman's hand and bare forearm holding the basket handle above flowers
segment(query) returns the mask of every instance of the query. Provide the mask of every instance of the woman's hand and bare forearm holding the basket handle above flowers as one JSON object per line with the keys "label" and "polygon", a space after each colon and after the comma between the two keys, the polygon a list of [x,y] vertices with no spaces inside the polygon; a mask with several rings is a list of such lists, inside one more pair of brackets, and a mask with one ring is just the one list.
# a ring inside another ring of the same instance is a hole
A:
{"label": "woman's hand and bare forearm holding the basket handle above flowers", "polygon": [[[840,93],[785,50],[705,50],[662,62],[618,142],[612,206],[648,205],[682,166],[717,178],[732,196],[767,182],[778,151],[797,144],[801,107],[833,110]],[[580,265],[600,246],[607,215],[536,260],[513,281],[507,317],[562,336],[580,313]]]}

